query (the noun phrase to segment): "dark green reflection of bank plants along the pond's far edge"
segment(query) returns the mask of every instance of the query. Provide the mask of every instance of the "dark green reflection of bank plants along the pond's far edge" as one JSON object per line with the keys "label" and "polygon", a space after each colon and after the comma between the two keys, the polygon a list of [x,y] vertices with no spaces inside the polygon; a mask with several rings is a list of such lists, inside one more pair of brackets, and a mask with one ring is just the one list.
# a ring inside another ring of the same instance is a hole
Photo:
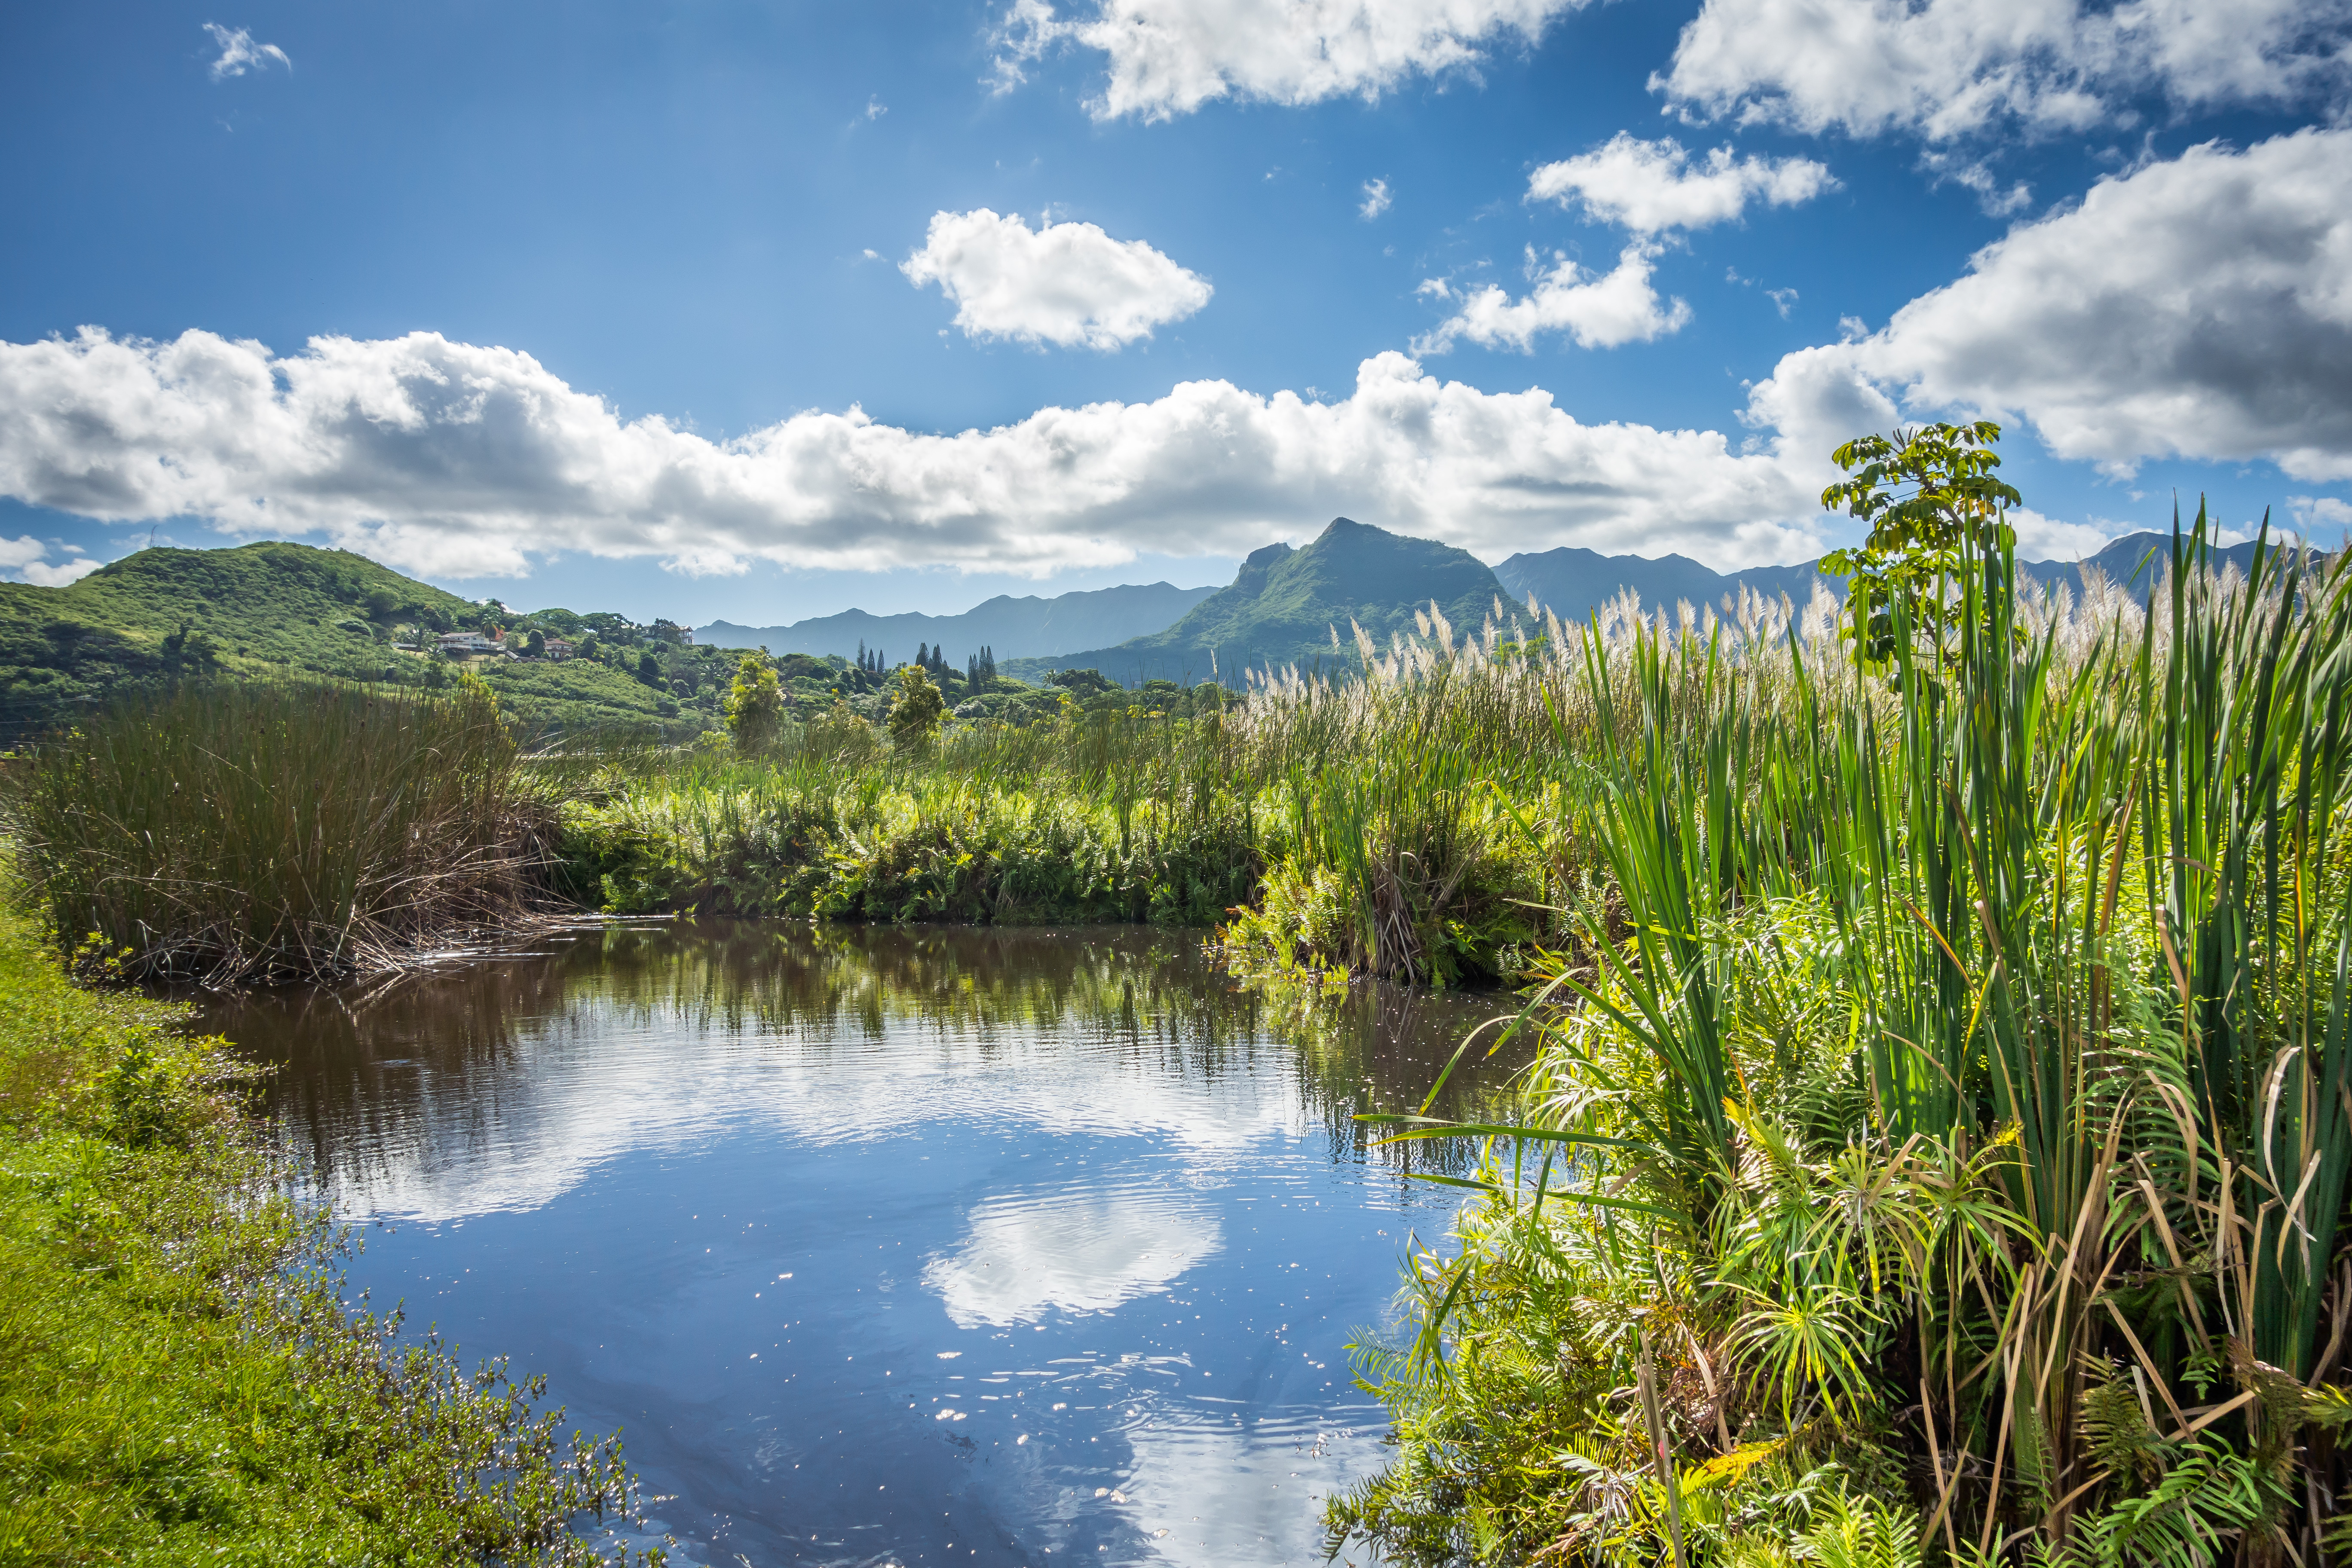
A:
{"label": "dark green reflection of bank plants along the pond's far edge", "polygon": [[[1385,987],[1301,1004],[1291,990],[1235,983],[1197,938],[1176,933],[724,919],[612,926],[543,959],[355,997],[313,992],[216,1013],[219,1027],[254,1048],[292,1053],[301,1041],[310,1067],[280,1093],[294,1098],[287,1114],[308,1124],[320,1154],[350,1117],[397,1114],[402,1088],[383,1077],[381,1058],[430,1056],[445,1081],[517,1070],[517,1037],[532,1020],[600,1006],[635,1032],[788,1039],[818,1053],[953,1037],[974,1060],[1011,1067],[1037,1041],[1082,1034],[1150,1072],[1195,1081],[1279,1070],[1334,1159],[1461,1164],[1456,1150],[1437,1145],[1374,1150],[1355,1114],[1418,1103],[1451,1048],[1454,1020],[1470,1016],[1463,1004],[1399,999]],[[1468,1114],[1484,1093],[1479,1077],[1463,1077],[1446,1105]]]}

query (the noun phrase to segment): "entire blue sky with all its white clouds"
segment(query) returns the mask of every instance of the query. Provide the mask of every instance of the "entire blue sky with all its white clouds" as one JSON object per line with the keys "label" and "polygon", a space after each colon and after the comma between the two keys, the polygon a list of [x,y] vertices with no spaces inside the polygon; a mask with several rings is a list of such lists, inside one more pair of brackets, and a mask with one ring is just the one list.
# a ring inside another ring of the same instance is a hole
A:
{"label": "entire blue sky with all its white clouds", "polygon": [[1844,538],[1828,444],[1957,411],[2009,421],[2037,552],[2176,491],[2333,538],[2347,35],[2343,0],[16,7],[0,567],[292,536],[748,623],[1216,583],[1334,512],[1731,567]]}

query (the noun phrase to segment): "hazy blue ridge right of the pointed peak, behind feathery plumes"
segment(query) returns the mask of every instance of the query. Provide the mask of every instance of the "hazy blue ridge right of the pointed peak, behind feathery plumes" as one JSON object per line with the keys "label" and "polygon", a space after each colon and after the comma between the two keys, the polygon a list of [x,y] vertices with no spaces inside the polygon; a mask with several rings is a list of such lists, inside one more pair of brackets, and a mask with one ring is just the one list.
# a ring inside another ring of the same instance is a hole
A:
{"label": "hazy blue ridge right of the pointed peak, behind feathery plumes", "polygon": [[[2082,569],[2098,567],[2119,583],[2136,583],[2147,592],[2171,559],[2171,534],[2126,534],[2107,543],[2098,555],[2082,562],[2018,562],[2018,574],[2056,588],[2065,583],[2082,590]],[[2253,545],[2230,545],[2213,552],[2213,564],[2230,562],[2244,571],[2253,559]],[[1788,595],[1797,604],[1813,597],[1813,578],[1820,562],[1797,567],[1748,567],[1745,571],[1712,571],[1686,555],[1599,555],[1597,550],[1543,550],[1541,555],[1512,555],[1494,576],[1519,604],[1536,595],[1536,604],[1550,609],[1562,621],[1585,621],[1592,611],[1628,588],[1642,595],[1649,609],[1672,609],[1677,599],[1696,607],[1722,607],[1745,583],[1764,595]],[[1835,578],[1823,578],[1837,592]]]}

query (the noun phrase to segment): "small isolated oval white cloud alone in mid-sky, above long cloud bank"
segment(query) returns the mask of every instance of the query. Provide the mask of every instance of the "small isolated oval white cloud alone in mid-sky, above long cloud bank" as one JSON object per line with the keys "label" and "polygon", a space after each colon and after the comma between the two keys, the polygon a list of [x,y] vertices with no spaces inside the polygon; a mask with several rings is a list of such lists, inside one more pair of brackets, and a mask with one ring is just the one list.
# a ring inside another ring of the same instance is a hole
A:
{"label": "small isolated oval white cloud alone in mid-sky, above long cloud bank", "polygon": [[901,268],[936,282],[971,339],[1120,348],[1209,303],[1209,282],[1143,240],[1112,240],[1094,223],[1030,228],[988,207],[941,212]]}

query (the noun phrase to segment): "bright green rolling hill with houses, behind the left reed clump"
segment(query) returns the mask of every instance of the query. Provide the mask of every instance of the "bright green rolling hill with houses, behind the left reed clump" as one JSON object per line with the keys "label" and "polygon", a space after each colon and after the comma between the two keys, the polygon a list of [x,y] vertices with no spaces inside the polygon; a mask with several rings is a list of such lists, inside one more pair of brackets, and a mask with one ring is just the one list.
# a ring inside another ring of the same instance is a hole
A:
{"label": "bright green rolling hill with houses, behind the left reed clump", "polygon": [[593,658],[473,661],[534,731],[635,726],[687,738],[717,724],[731,668],[717,649],[680,646],[619,616],[513,616],[365,555],[259,543],[139,550],[68,588],[0,583],[0,743],[183,675],[435,684],[452,663],[393,639],[485,623],[597,632]]}

